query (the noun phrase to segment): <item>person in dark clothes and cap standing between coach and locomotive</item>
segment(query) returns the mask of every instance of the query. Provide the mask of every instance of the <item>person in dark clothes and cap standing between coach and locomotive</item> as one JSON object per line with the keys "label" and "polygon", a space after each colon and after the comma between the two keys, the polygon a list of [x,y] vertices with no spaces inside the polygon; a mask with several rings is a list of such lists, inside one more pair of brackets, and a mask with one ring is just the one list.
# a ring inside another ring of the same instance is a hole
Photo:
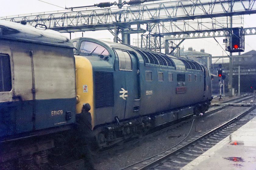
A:
{"label": "person in dark clothes and cap standing between coach and locomotive", "polygon": [[[86,103],[82,107],[80,114],[76,114],[76,139],[80,150],[80,156],[84,158],[85,169],[94,169],[90,149],[93,148],[95,136],[91,125],[90,104]],[[95,147],[94,147],[95,148]]]}

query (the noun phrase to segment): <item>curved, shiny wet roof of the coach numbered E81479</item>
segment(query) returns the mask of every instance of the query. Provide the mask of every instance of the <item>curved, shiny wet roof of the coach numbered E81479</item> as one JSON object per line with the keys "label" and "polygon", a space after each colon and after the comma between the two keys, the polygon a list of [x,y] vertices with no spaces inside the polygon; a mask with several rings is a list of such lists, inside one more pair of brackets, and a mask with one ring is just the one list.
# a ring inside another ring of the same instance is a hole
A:
{"label": "curved, shiny wet roof of the coach numbered E81479", "polygon": [[59,32],[3,20],[0,20],[0,39],[74,48],[72,41]]}

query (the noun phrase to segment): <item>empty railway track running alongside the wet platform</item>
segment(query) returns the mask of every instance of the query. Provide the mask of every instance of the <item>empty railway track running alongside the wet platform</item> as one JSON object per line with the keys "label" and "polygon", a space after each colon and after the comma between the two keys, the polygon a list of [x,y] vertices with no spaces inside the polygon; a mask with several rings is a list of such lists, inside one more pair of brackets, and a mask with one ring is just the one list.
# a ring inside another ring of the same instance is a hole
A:
{"label": "empty railway track running alongside the wet platform", "polygon": [[[250,97],[243,98],[242,100],[249,99]],[[190,161],[197,158],[199,155],[207,151],[209,148],[214,146],[216,143],[226,138],[229,134],[236,131],[238,128],[246,124],[251,119],[243,118],[251,110],[255,109],[255,104],[237,104],[241,100],[233,101],[232,103],[226,103],[222,107],[215,108],[214,110],[209,111],[207,114],[212,114],[219,111],[220,109],[226,108],[229,105],[241,105],[248,106],[240,115],[234,117],[233,119],[220,124],[211,131],[207,133],[202,133],[198,136],[195,136],[192,139],[181,141],[179,144],[169,148],[168,150],[154,155],[150,158],[144,159],[143,161],[137,162],[133,165],[129,165],[120,170],[126,169],[155,169],[155,170],[165,170],[165,169],[180,169],[183,166],[187,165]],[[230,101],[229,101],[230,102]],[[221,105],[223,105],[221,104]],[[219,105],[219,104],[218,104]],[[194,121],[193,121],[194,123]],[[191,125],[190,131],[193,128],[193,123]],[[187,138],[187,137],[186,137]],[[185,139],[186,139],[185,138]]]}

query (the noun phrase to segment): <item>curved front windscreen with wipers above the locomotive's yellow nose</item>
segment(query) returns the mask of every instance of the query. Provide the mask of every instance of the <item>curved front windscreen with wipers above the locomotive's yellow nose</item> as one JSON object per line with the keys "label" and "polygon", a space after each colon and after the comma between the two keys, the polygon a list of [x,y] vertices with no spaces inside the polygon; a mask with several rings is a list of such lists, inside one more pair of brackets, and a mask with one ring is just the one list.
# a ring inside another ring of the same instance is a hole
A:
{"label": "curved front windscreen with wipers above the locomotive's yellow nose", "polygon": [[108,53],[108,50],[105,49],[105,47],[99,45],[99,44],[96,44],[94,42],[89,42],[89,41],[83,41],[81,43],[81,46],[80,46],[80,50],[79,52],[81,54],[97,54],[97,55],[103,55],[103,56],[108,56],[109,53]]}

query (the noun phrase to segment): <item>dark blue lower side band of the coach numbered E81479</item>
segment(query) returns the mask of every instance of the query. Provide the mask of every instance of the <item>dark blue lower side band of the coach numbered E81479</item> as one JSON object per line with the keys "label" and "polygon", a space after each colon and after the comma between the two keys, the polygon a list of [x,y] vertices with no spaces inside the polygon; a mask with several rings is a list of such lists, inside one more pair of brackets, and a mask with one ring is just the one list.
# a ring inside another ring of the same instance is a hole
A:
{"label": "dark blue lower side band of the coach numbered E81479", "polygon": [[[0,138],[72,124],[75,122],[75,105],[76,98],[2,102],[0,103]],[[63,110],[63,112],[52,116],[53,110]],[[72,113],[70,120],[66,120],[67,111]]]}

